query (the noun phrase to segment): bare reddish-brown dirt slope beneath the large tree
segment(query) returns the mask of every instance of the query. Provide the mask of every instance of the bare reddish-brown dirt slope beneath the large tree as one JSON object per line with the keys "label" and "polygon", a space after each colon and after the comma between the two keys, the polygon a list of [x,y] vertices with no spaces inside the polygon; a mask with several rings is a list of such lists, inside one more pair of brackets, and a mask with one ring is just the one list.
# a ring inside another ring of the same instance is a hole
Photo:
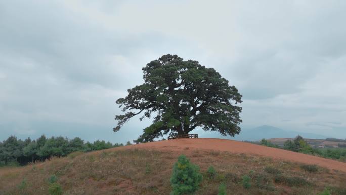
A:
{"label": "bare reddish-brown dirt slope beneath the large tree", "polygon": [[158,150],[183,150],[189,147],[189,150],[220,150],[229,151],[234,153],[256,154],[274,159],[281,159],[285,161],[299,162],[305,164],[316,164],[321,167],[335,169],[346,172],[346,163],[315,157],[313,155],[292,152],[283,149],[266,147],[246,142],[228,140],[228,139],[214,139],[214,138],[198,138],[198,139],[175,139],[157,142],[149,142],[130,147],[139,148],[152,148]]}

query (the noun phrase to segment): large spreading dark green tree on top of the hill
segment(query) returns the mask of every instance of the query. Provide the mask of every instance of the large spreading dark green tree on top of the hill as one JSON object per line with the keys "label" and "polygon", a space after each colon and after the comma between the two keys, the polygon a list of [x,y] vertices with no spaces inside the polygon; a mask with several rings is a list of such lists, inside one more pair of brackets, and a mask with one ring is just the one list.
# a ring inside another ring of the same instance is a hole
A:
{"label": "large spreading dark green tree on top of the hill", "polygon": [[114,132],[143,113],[140,120],[153,114],[153,124],[135,142],[153,141],[168,133],[188,134],[199,126],[223,136],[239,134],[242,121],[237,103],[242,102],[242,96],[213,68],[167,54],[142,70],[144,84],[127,90],[125,98],[116,100],[127,112],[115,116],[118,124]]}

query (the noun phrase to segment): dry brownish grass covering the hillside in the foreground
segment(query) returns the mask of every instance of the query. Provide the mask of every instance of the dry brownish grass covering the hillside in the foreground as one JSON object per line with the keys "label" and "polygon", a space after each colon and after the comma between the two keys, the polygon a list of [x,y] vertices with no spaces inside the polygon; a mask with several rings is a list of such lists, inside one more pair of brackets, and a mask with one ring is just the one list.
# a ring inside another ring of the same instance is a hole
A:
{"label": "dry brownish grass covering the hillside in the foreground", "polygon": [[[226,183],[228,194],[238,195],[309,195],[317,194],[325,186],[339,189],[341,192],[338,194],[346,190],[343,188],[346,175],[340,171],[319,168],[310,173],[301,170],[298,163],[230,152],[191,148],[183,148],[181,152],[163,152],[123,147],[75,153],[67,158],[20,168],[0,168],[0,194],[49,194],[48,178],[53,174],[59,178],[58,183],[66,195],[169,194],[171,168],[181,153],[198,164],[204,174],[196,194],[217,194],[221,182]],[[209,166],[218,172],[213,179],[207,179],[205,175]],[[268,167],[272,171],[268,172]],[[251,177],[250,189],[242,187],[241,177],[245,174]],[[296,181],[306,183],[301,185]]]}

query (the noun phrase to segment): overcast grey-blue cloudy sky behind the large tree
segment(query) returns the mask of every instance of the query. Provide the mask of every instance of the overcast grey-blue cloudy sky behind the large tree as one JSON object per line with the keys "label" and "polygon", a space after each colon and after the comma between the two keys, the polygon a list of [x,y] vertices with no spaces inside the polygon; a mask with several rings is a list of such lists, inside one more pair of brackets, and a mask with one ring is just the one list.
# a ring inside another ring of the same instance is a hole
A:
{"label": "overcast grey-blue cloudy sky behind the large tree", "polygon": [[[97,3],[96,3],[97,2]],[[346,138],[346,1],[0,0],[0,140],[125,142],[115,100],[164,54],[221,73],[242,127]]]}

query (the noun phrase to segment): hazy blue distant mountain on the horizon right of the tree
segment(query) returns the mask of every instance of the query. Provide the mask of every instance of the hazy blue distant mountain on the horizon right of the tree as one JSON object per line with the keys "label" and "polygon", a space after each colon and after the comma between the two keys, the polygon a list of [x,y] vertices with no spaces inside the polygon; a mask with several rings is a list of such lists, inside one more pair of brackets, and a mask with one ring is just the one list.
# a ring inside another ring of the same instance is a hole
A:
{"label": "hazy blue distant mountain on the horizon right of the tree", "polygon": [[246,141],[257,141],[263,138],[294,138],[297,135],[300,135],[304,138],[311,139],[326,139],[326,136],[314,134],[314,133],[304,133],[304,132],[296,132],[296,131],[287,131],[277,127],[263,125],[260,127],[256,127],[253,129],[242,129],[239,135],[235,137],[224,137],[220,135],[218,132],[196,132],[198,133],[198,137],[211,137],[211,138],[224,138],[224,139],[235,139],[235,140],[246,140]]}

